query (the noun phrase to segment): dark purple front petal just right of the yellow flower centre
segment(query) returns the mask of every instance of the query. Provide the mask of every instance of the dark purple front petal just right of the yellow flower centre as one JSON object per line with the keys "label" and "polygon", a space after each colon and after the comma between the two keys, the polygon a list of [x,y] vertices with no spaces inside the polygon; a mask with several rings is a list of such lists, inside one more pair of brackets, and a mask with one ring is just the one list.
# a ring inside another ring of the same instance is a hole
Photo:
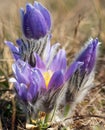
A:
{"label": "dark purple front petal just right of the yellow flower centre", "polygon": [[56,71],[49,82],[48,89],[57,89],[63,84],[63,74],[61,71]]}

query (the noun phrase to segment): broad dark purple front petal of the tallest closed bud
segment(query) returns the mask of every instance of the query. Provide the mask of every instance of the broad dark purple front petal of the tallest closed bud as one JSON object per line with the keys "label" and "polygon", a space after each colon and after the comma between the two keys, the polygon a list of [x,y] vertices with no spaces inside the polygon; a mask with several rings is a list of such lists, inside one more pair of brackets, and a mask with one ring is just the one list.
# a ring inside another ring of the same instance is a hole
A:
{"label": "broad dark purple front petal of the tallest closed bud", "polygon": [[26,5],[23,31],[24,35],[29,39],[39,39],[47,34],[47,25],[43,15],[31,4]]}

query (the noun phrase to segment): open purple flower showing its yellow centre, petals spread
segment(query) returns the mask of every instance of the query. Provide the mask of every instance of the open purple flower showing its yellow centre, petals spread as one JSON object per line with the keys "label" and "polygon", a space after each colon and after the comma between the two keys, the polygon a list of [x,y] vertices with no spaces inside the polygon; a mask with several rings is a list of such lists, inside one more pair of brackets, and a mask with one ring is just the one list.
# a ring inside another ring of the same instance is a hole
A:
{"label": "open purple flower showing its yellow centre, petals spread", "polygon": [[47,90],[62,86],[82,64],[75,61],[67,67],[65,50],[57,52],[58,48],[59,43],[50,47],[50,42],[47,42],[42,59],[35,53],[36,68],[41,72]]}

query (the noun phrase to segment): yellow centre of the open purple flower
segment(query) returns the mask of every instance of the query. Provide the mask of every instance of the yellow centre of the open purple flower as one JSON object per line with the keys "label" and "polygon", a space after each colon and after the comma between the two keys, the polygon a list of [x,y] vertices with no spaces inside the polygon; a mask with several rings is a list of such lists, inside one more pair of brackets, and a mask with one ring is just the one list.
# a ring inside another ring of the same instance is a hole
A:
{"label": "yellow centre of the open purple flower", "polygon": [[48,84],[50,82],[52,74],[53,72],[51,70],[48,70],[47,72],[43,72],[43,77],[45,80],[46,88],[48,88]]}

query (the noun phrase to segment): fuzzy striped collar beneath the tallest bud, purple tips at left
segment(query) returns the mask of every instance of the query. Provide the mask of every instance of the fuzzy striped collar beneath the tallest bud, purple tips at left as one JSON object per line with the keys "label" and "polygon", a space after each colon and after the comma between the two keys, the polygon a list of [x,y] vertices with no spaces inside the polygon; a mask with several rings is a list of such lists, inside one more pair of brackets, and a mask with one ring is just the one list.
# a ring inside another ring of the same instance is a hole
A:
{"label": "fuzzy striped collar beneath the tallest bud, purple tips at left", "polygon": [[43,55],[43,48],[45,48],[49,40],[50,35],[47,35],[39,40],[17,39],[17,46],[10,41],[5,41],[5,44],[10,48],[15,60],[21,59],[28,62],[32,67],[35,67],[36,62],[33,53],[36,52],[39,55]]}

